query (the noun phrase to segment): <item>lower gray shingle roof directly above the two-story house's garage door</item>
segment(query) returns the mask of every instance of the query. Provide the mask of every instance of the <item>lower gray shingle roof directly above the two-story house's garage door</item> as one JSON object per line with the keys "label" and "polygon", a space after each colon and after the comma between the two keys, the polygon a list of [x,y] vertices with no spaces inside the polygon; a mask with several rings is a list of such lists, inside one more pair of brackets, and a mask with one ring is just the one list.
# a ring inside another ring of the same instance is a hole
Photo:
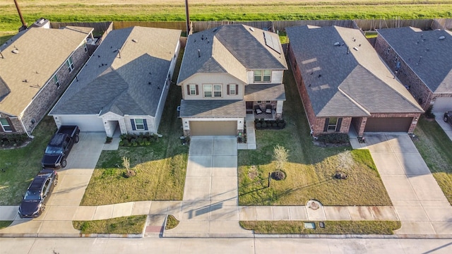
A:
{"label": "lower gray shingle roof directly above the two-story house's garage door", "polygon": [[237,118],[246,116],[243,100],[182,99],[180,117]]}

